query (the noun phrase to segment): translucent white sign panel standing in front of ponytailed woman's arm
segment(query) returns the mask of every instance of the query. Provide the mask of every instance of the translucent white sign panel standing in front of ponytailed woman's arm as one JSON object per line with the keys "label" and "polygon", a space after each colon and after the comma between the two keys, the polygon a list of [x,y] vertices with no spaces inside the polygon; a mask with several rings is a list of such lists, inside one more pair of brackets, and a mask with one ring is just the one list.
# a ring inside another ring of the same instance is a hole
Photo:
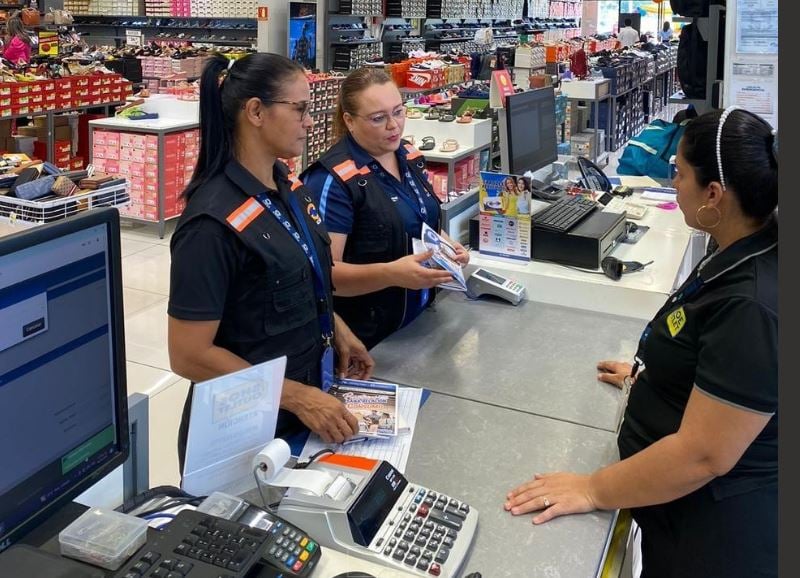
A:
{"label": "translucent white sign panel standing in front of ponytailed woman's arm", "polygon": [[253,457],[275,437],[286,356],[196,383],[181,488],[196,496],[255,487]]}

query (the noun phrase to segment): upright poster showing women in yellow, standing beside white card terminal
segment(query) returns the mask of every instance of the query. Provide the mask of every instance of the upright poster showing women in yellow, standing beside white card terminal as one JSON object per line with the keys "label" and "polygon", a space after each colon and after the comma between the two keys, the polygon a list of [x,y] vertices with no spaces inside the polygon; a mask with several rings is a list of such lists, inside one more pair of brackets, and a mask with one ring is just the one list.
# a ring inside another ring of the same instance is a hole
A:
{"label": "upright poster showing women in yellow, standing beside white card terminal", "polygon": [[482,255],[531,258],[531,187],[521,176],[481,172],[478,191]]}

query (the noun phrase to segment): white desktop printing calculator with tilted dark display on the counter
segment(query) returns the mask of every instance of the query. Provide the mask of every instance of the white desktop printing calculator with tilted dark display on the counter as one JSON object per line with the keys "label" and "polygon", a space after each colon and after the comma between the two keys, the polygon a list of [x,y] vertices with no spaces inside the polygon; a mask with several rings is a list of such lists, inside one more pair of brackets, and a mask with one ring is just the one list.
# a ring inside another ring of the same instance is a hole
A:
{"label": "white desktop printing calculator with tilted dark display on the counter", "polygon": [[322,496],[290,488],[278,515],[304,528],[323,547],[418,576],[455,576],[478,512],[409,482],[392,464],[340,454],[309,466],[334,481]]}

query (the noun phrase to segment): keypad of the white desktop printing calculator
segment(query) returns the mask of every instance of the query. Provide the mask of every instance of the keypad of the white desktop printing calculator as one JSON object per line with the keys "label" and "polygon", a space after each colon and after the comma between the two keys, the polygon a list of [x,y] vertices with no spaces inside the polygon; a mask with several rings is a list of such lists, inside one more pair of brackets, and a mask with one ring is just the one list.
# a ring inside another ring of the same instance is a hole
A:
{"label": "keypad of the white desktop printing calculator", "polygon": [[[430,576],[439,576],[469,505],[425,488],[409,486],[410,501],[395,508],[384,522],[375,543],[383,555]],[[389,530],[386,532],[386,530]]]}

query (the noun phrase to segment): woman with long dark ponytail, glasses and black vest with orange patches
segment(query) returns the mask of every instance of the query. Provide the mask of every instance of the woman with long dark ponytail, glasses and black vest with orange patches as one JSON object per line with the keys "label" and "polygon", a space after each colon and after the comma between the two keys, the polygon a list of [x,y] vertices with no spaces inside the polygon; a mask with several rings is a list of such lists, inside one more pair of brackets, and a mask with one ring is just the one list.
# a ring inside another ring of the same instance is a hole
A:
{"label": "woman with long dark ponytail, glasses and black vest with orange patches", "polygon": [[303,69],[283,56],[206,64],[200,154],[170,243],[169,356],[175,373],[197,382],[285,355],[276,435],[305,427],[342,442],[358,423],[323,392],[333,352],[353,377],[368,377],[373,363],[333,314],[330,239],[311,194],[278,161],[303,152],[308,101]]}

